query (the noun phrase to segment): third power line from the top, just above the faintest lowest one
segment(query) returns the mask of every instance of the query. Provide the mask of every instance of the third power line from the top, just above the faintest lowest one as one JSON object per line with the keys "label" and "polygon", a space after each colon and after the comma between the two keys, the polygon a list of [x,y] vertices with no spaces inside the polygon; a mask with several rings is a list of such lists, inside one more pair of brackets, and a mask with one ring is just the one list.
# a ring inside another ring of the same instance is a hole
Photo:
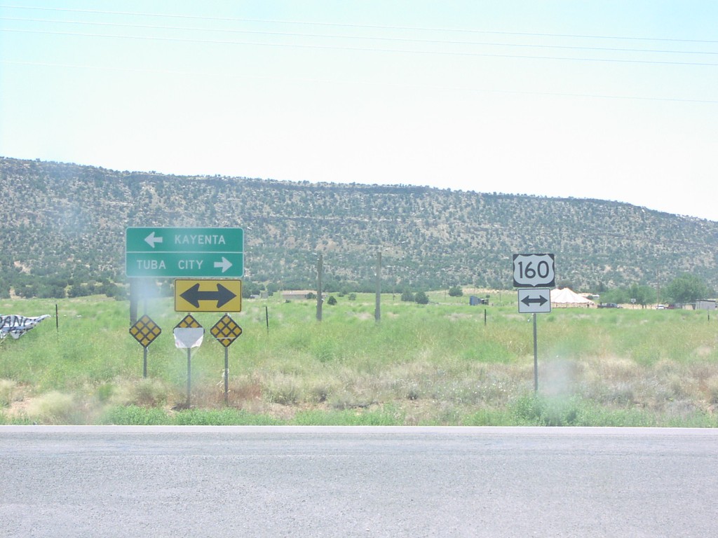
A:
{"label": "third power line from the top, just above the faintest lowest one", "polygon": [[158,37],[158,36],[129,36],[120,34],[85,34],[81,32],[57,32],[52,30],[29,30],[0,28],[0,32],[18,32],[25,34],[50,34],[64,35],[72,37],[103,37],[113,39],[141,39],[154,40],[162,42],[185,42],[185,43],[202,43],[202,44],[231,44],[231,45],[252,45],[256,47],[289,47],[297,49],[327,49],[327,50],[344,50],[354,52],[394,52],[405,54],[421,54],[421,55],[442,55],[442,56],[465,56],[465,57],[493,57],[493,58],[515,58],[521,60],[564,60],[574,62],[616,62],[630,64],[653,64],[653,65],[693,65],[703,67],[718,67],[718,63],[711,62],[678,62],[670,60],[629,60],[620,58],[587,58],[587,57],[562,57],[562,56],[537,56],[537,55],[508,55],[495,54],[489,52],[449,52],[440,50],[416,50],[416,49],[386,49],[386,48],[363,48],[363,47],[341,47],[327,46],[316,44],[284,44],[284,43],[263,43],[263,42],[244,42],[244,41],[225,41],[220,39],[192,39],[187,37]]}

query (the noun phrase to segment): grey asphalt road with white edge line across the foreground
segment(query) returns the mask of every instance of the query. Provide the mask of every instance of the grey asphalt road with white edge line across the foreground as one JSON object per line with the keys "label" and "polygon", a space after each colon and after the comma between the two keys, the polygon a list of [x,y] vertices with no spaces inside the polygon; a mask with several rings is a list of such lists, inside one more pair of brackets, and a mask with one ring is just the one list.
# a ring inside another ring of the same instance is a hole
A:
{"label": "grey asphalt road with white edge line across the foreground", "polygon": [[709,537],[718,430],[0,427],[0,537]]}

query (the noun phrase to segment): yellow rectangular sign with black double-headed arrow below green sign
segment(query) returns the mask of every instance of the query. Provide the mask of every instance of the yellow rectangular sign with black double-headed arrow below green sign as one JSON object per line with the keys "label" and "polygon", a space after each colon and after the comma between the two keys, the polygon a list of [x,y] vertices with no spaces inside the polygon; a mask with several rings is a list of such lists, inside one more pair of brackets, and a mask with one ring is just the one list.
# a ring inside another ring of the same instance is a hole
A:
{"label": "yellow rectangular sign with black double-headed arrow below green sign", "polygon": [[241,312],[241,280],[174,280],[176,312]]}

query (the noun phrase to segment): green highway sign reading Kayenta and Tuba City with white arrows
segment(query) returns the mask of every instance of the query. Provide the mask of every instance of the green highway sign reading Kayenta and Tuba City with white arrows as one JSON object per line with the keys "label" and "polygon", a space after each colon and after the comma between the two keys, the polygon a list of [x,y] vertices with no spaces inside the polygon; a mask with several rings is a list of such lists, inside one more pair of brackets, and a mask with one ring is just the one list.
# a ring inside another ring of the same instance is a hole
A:
{"label": "green highway sign reading Kayenta and Tuba City with white arrows", "polygon": [[241,228],[136,227],[125,230],[125,272],[137,278],[241,278]]}

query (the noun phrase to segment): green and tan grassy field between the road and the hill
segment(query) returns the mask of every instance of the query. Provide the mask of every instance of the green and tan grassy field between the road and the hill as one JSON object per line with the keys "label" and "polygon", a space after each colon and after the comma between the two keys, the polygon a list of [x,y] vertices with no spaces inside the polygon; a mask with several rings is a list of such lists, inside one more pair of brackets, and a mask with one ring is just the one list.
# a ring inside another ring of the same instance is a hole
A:
{"label": "green and tan grassy field between the road and the hill", "polygon": [[[55,313],[0,342],[0,424],[718,425],[718,319],[705,311],[554,308],[533,324],[516,292],[503,305],[430,293],[425,306],[374,297],[337,305],[245,300],[230,314],[243,334],[210,335],[221,313],[196,313],[205,338],[187,351],[172,299],[141,312],[162,328],[143,349],[129,304],[91,297],[0,301],[0,313]],[[269,329],[266,314],[269,313]]]}

